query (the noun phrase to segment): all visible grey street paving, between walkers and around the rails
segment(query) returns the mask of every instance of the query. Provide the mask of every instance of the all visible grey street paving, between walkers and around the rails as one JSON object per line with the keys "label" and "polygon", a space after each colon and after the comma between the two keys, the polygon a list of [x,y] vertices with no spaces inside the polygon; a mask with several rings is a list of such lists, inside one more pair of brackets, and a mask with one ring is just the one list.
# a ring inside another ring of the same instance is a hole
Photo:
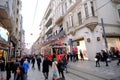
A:
{"label": "all visible grey street paving, between walkers and around the rails", "polygon": [[[69,72],[64,72],[65,78],[66,80],[120,80],[120,66],[117,66],[116,62],[110,62],[108,67],[103,62],[101,62],[101,67],[95,67],[95,62],[92,61],[69,62]],[[4,79],[5,76],[4,72]],[[13,80],[13,74],[10,80]],[[30,67],[28,80],[44,80],[44,76],[41,71],[38,71],[37,65],[35,65],[35,70]],[[49,80],[52,80],[51,67]]]}

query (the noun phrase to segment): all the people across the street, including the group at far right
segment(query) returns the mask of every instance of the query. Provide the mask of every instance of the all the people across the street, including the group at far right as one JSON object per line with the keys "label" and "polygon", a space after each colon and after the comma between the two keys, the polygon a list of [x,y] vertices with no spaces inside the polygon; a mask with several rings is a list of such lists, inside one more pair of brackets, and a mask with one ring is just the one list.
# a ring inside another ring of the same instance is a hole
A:
{"label": "all the people across the street, including the group at far right", "polygon": [[[16,58],[11,58],[9,61],[5,61],[4,57],[0,58],[0,80],[3,80],[3,72],[6,71],[6,80],[10,80],[11,74],[14,76],[14,80],[27,80],[28,70],[30,64],[32,69],[35,70],[35,62],[37,62],[37,67],[39,71],[42,71],[45,80],[49,78],[49,66],[52,68],[52,80],[65,80],[64,72],[68,72],[67,65],[69,61],[76,62],[78,61],[78,55],[75,53],[65,54],[61,59],[57,60],[56,55],[52,56],[52,61],[48,59],[48,56],[40,55],[29,55],[29,56],[18,56]],[[81,60],[84,61],[82,51],[80,50]],[[116,56],[118,59],[117,65],[120,64],[120,52],[115,51],[114,55],[112,53],[107,53],[105,50],[96,53],[96,67],[100,67],[100,61],[105,62],[106,66],[109,66],[108,59]],[[41,65],[42,63],[42,65]],[[51,64],[52,63],[52,64]],[[42,70],[41,70],[42,69]]]}

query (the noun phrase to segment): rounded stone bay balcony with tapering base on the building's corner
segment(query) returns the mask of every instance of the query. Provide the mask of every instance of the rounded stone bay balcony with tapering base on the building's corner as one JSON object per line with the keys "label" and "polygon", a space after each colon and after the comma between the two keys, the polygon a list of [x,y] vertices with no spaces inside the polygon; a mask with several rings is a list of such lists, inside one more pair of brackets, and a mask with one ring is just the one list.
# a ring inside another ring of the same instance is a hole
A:
{"label": "rounded stone bay balcony with tapering base on the building's corner", "polygon": [[87,19],[84,20],[83,25],[88,27],[91,31],[94,30],[94,28],[96,27],[96,25],[98,24],[98,18],[97,17],[89,17]]}

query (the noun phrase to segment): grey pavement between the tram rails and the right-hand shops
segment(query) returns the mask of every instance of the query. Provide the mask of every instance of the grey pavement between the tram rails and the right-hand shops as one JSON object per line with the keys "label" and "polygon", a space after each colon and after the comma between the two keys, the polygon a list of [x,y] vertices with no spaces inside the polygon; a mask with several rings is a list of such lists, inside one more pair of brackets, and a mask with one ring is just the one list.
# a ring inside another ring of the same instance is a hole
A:
{"label": "grey pavement between the tram rails and the right-hand shops", "polygon": [[[105,62],[100,62],[101,67],[95,67],[95,61],[78,61],[69,62],[68,66],[70,69],[106,80],[120,80],[120,66],[117,66],[116,63],[117,61],[111,61],[106,67]],[[72,71],[72,73],[74,72]]]}

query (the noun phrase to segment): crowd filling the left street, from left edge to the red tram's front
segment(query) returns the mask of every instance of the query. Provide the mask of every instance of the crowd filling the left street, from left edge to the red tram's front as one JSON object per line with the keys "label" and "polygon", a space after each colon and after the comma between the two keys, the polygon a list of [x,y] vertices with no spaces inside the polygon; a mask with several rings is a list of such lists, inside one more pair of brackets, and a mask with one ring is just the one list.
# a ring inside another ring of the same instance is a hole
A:
{"label": "crowd filling the left street, from left edge to the red tram's front", "polygon": [[53,57],[52,61],[50,61],[47,56],[42,58],[40,55],[30,55],[30,56],[21,56],[21,57],[18,56],[16,58],[11,58],[11,60],[9,61],[5,61],[4,57],[1,57],[0,80],[4,80],[3,79],[4,72],[6,73],[6,80],[10,80],[12,74],[14,80],[27,80],[27,74],[30,68],[30,64],[31,64],[31,68],[35,70],[35,62],[37,63],[38,70],[42,71],[45,80],[48,80],[49,66],[51,66],[52,68],[53,80],[59,80],[59,78],[63,78],[62,80],[64,80],[65,76],[63,71],[65,69],[65,66],[67,65],[66,56],[67,55],[65,55],[59,61],[56,61],[56,57]]}

